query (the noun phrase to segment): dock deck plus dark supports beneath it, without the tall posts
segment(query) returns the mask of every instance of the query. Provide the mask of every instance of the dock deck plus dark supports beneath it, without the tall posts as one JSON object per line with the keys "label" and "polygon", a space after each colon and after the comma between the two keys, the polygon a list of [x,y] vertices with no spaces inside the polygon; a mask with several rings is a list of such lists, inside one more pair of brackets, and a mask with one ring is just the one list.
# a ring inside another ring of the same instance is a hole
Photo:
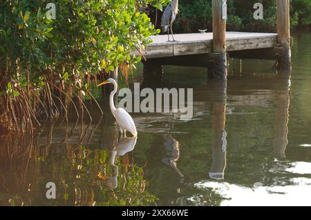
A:
{"label": "dock deck plus dark supports beneath it, without the tall posts", "polygon": [[[213,33],[175,34],[176,41],[167,35],[152,36],[153,41],[143,51],[144,74],[161,74],[162,66],[196,66],[215,69],[218,54],[214,53]],[[276,33],[226,32],[226,56],[238,59],[267,59],[279,61],[285,49],[278,43]],[[135,52],[135,55],[139,55]],[[213,77],[213,76],[212,76]]]}

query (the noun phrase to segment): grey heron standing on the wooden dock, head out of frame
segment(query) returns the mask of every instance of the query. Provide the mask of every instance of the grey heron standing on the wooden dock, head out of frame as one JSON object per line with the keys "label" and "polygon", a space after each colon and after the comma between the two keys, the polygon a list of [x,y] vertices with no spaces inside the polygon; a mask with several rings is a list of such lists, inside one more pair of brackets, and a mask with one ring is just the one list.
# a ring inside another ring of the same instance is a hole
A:
{"label": "grey heron standing on the wooden dock, head out of frame", "polygon": [[[173,37],[173,41],[176,41],[174,39],[173,35],[173,22],[176,19],[176,16],[178,14],[178,0],[173,0],[167,8],[165,8],[162,19],[161,19],[161,27],[163,32],[167,32],[167,37],[169,38],[169,30],[171,30],[171,36]],[[170,40],[168,40],[170,41]]]}

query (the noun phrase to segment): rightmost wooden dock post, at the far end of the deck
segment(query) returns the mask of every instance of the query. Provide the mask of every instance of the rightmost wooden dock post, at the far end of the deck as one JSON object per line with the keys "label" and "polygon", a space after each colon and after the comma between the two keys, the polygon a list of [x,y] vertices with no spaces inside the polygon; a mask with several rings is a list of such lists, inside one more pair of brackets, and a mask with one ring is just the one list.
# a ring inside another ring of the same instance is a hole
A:
{"label": "rightmost wooden dock post, at the far end of the deck", "polygon": [[278,17],[278,41],[285,53],[279,61],[279,68],[289,69],[291,66],[291,37],[290,37],[290,0],[276,0]]}

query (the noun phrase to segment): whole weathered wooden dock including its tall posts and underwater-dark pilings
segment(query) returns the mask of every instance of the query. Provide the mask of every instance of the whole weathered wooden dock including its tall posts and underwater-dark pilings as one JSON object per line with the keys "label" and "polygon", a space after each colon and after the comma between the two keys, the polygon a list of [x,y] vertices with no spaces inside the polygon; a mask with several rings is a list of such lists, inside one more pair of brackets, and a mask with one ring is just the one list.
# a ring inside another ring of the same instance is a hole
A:
{"label": "whole weathered wooden dock including its tall posts and underwater-dark pilings", "polygon": [[290,68],[290,0],[276,0],[277,34],[227,32],[225,8],[225,0],[212,0],[213,32],[175,34],[177,41],[169,42],[167,34],[152,36],[153,42],[142,52],[146,79],[162,74],[162,65],[207,67],[209,77],[225,79],[228,55],[240,59],[273,59],[276,67]]}

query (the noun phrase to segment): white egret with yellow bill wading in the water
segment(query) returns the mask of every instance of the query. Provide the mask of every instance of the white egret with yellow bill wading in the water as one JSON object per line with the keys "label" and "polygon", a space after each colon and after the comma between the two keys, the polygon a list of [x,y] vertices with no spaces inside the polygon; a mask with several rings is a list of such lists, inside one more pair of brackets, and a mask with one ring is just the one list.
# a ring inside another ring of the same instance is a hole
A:
{"label": "white egret with yellow bill wading in the water", "polygon": [[137,137],[136,126],[131,115],[129,115],[129,113],[126,112],[126,110],[124,110],[123,108],[115,108],[115,104],[113,103],[113,96],[115,95],[115,92],[117,92],[117,82],[114,79],[109,78],[106,81],[100,83],[98,86],[103,86],[108,83],[113,84],[113,91],[111,92],[109,97],[110,110],[115,117],[115,121],[117,122],[117,126],[119,126],[120,128],[121,134],[124,134],[124,136],[126,136],[127,130],[131,132],[134,137]]}

